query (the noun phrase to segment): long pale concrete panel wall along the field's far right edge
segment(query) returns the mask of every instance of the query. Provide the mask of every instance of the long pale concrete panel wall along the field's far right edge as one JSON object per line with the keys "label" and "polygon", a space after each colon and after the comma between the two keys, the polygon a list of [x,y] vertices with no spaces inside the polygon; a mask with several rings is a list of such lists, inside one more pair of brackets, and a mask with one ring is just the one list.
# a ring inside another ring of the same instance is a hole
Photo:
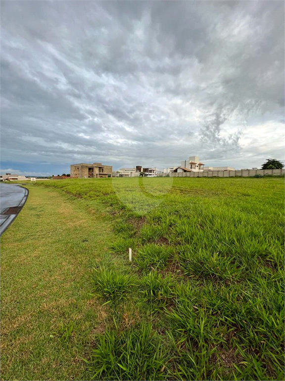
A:
{"label": "long pale concrete panel wall along the field's far right edge", "polygon": [[261,176],[282,176],[285,174],[285,168],[283,169],[244,169],[239,171],[203,171],[203,172],[171,172],[162,173],[165,177],[253,177],[255,175]]}

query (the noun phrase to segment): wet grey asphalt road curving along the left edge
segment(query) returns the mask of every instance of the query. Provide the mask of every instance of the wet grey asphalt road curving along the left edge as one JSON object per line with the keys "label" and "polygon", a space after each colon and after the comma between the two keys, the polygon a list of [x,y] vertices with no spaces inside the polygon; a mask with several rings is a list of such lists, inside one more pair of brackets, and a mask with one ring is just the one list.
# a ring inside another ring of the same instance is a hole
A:
{"label": "wet grey asphalt road curving along the left edge", "polygon": [[27,197],[28,190],[25,188],[15,184],[0,184],[0,235],[17,216]]}

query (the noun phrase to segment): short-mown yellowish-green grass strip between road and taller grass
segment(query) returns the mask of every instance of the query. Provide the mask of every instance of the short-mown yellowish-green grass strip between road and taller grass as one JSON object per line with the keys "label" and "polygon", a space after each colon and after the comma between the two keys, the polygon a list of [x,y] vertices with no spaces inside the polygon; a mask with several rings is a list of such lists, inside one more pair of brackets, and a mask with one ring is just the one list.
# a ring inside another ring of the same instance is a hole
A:
{"label": "short-mown yellowish-green grass strip between road and taller grass", "polygon": [[1,237],[1,380],[86,379],[106,308],[90,272],[114,233],[100,205],[35,186]]}

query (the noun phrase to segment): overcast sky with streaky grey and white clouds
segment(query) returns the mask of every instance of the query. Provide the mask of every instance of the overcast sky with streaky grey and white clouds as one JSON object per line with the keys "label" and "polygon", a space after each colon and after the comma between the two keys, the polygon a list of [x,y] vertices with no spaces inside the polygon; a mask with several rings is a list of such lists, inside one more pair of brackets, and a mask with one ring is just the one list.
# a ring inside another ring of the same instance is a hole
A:
{"label": "overcast sky with streaky grey and white clouds", "polygon": [[284,1],[1,1],[1,170],[284,161]]}

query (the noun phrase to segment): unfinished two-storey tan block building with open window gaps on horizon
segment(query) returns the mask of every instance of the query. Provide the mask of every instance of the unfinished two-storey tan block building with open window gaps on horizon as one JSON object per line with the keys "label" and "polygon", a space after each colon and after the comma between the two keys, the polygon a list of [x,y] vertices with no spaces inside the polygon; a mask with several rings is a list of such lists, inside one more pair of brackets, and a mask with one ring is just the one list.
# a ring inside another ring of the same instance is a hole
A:
{"label": "unfinished two-storey tan block building with open window gaps on horizon", "polygon": [[70,166],[70,177],[75,179],[112,177],[113,167],[102,163],[72,164]]}

